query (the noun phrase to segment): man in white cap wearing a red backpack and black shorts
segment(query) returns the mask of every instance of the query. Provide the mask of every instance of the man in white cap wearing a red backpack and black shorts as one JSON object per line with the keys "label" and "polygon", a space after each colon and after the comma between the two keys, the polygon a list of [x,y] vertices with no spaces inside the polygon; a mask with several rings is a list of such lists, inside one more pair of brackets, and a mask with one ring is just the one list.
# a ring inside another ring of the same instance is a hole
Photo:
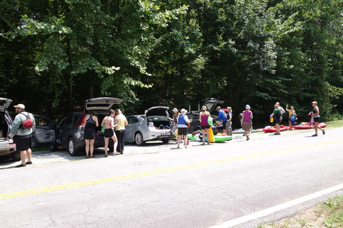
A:
{"label": "man in white cap wearing a red backpack and black shorts", "polygon": [[[32,164],[32,151],[31,138],[32,133],[36,128],[36,121],[34,116],[25,112],[25,105],[19,103],[14,105],[16,108],[16,117],[14,118],[10,134],[8,134],[7,140],[13,138],[13,142],[16,143],[16,150],[21,153],[21,164],[16,167],[25,167],[27,164]],[[27,157],[27,162],[25,162]]]}

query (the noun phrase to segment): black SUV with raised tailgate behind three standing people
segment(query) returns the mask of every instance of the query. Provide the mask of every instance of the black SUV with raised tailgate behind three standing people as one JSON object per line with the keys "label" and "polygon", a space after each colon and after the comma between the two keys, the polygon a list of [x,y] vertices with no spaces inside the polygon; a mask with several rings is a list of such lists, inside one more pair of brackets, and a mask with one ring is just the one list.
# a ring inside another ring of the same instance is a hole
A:
{"label": "black SUV with raised tailgate behind three standing people", "polygon": [[[97,136],[94,148],[104,147],[104,135],[100,133],[102,120],[108,114],[108,110],[115,104],[120,104],[121,99],[113,97],[98,97],[84,101],[84,111],[93,111],[99,121]],[[51,145],[50,150],[55,151],[58,147],[67,148],[71,156],[79,155],[84,152],[86,144],[84,142],[84,117],[85,112],[71,112],[64,116],[56,126],[56,142]],[[113,151],[113,140],[110,140],[108,147]]]}

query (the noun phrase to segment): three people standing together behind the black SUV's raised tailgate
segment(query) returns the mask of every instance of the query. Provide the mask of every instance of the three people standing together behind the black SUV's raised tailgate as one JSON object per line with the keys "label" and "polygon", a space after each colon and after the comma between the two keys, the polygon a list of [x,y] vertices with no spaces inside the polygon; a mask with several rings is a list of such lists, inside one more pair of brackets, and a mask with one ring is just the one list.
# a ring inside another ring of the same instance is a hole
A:
{"label": "three people standing together behind the black SUV's raised tailgate", "polygon": [[[113,153],[115,153],[115,151],[117,151],[117,153],[123,153],[126,125],[128,125],[126,116],[124,116],[119,109],[109,110],[108,115],[102,120],[101,126],[104,127],[105,157],[108,157],[108,141],[110,138],[115,142]],[[88,114],[84,118],[86,158],[95,157],[93,151],[97,127],[99,127],[97,116],[95,116],[92,111],[88,111]]]}

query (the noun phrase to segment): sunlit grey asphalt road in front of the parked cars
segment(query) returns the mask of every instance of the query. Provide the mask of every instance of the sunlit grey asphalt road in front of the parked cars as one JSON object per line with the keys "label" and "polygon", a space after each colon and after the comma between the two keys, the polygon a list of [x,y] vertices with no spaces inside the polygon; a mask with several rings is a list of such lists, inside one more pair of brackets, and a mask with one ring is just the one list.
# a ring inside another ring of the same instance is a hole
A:
{"label": "sunlit grey asphalt road in front of the parked cars", "polygon": [[252,134],[187,149],[128,145],[124,155],[99,151],[88,160],[36,153],[25,168],[2,162],[0,227],[230,227],[237,218],[247,219],[235,227],[256,227],[343,193],[342,133]]}

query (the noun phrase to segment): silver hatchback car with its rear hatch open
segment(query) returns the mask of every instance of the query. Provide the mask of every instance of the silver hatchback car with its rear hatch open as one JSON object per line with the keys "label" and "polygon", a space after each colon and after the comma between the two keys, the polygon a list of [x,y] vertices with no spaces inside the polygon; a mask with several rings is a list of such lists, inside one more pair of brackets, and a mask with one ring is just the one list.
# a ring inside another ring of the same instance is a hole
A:
{"label": "silver hatchback car with its rear hatch open", "polygon": [[149,140],[169,142],[174,137],[174,129],[168,114],[169,107],[154,106],[145,110],[145,114],[126,116],[125,141],[141,146]]}

